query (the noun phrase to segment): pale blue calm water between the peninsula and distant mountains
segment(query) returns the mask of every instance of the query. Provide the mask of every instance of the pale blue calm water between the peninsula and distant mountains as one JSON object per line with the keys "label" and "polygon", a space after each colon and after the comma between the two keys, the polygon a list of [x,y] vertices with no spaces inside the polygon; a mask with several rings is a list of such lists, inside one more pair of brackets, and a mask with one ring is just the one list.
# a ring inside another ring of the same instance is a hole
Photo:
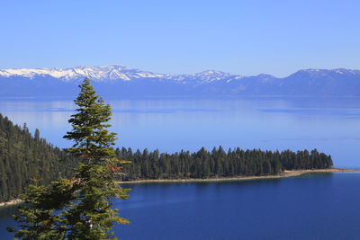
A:
{"label": "pale blue calm water between the peninsula and distant mountains", "polygon": [[[232,100],[119,100],[112,105],[118,147],[175,152],[214,146],[317,148],[338,166],[360,167],[360,99],[244,98]],[[70,128],[72,101],[0,100],[0,112],[59,147]]]}

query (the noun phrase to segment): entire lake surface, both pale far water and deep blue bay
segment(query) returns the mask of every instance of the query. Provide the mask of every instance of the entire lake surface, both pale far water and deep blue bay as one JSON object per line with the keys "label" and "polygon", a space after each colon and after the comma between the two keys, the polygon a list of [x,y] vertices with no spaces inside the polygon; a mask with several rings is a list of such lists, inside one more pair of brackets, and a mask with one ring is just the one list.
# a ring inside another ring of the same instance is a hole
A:
{"label": "entire lake surface, both pale far water and deep blue bay", "polygon": [[[118,147],[312,149],[336,166],[360,168],[360,99],[108,101]],[[67,147],[71,101],[0,100],[0,112]],[[329,173],[253,182],[132,185],[116,207],[124,239],[358,239],[360,174]],[[0,210],[0,227],[12,208]],[[3,233],[3,230],[0,230]],[[2,235],[4,236],[4,235]],[[7,235],[9,236],[9,235]]]}

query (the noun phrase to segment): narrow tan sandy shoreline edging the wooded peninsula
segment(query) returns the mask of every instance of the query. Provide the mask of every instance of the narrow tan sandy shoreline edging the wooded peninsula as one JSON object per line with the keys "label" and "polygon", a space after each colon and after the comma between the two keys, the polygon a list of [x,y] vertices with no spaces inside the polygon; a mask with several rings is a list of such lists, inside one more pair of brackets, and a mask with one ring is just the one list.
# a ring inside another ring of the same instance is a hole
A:
{"label": "narrow tan sandy shoreline edging the wooded peninsula", "polygon": [[119,184],[130,183],[161,183],[161,182],[225,182],[225,181],[247,181],[247,180],[262,180],[262,179],[279,179],[287,177],[296,177],[308,173],[360,173],[360,170],[345,169],[345,168],[328,168],[328,169],[306,169],[306,170],[285,170],[284,173],[278,175],[266,176],[238,176],[238,177],[221,177],[221,178],[187,178],[187,179],[148,179],[122,182]]}

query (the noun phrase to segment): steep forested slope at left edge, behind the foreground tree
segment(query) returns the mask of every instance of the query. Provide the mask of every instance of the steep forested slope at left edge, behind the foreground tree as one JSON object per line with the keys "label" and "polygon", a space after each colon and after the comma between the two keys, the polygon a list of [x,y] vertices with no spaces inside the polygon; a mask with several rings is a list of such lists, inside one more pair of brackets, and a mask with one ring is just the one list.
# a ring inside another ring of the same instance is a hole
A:
{"label": "steep forested slope at left edge, behind the foreground tree", "polygon": [[38,129],[34,135],[0,114],[0,202],[18,198],[33,178],[47,184],[71,176],[75,161],[40,138]]}

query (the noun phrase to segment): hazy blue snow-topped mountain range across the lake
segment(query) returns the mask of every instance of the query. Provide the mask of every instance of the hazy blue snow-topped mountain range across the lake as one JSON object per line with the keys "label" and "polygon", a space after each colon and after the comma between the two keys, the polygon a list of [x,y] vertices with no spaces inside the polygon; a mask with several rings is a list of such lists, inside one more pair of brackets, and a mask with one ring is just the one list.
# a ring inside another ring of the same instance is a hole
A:
{"label": "hazy blue snow-topped mountain range across the lake", "polygon": [[359,96],[360,71],[345,68],[305,69],[283,78],[240,76],[208,70],[196,74],[157,74],[121,65],[0,70],[4,97],[73,96],[89,77],[104,96]]}

